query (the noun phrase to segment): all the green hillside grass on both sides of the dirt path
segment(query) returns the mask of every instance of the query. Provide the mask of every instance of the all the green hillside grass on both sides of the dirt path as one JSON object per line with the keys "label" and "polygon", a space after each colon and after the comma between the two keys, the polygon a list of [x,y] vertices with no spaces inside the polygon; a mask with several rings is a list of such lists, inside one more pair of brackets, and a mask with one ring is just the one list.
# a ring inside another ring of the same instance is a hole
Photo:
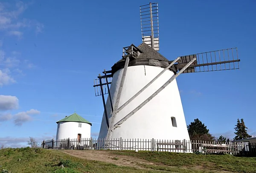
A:
{"label": "all the green hillside grass on both sides of the dirt path", "polygon": [[256,172],[255,157],[246,158],[230,155],[205,156],[189,153],[186,155],[184,153],[151,153],[143,151],[109,150],[107,152],[113,155],[115,160],[119,160],[120,156],[130,156],[134,160],[145,160],[145,164],[138,163],[138,167],[118,166],[107,162],[69,156],[60,150],[33,149],[29,147],[7,148],[0,150],[0,173],[1,171],[3,173]]}

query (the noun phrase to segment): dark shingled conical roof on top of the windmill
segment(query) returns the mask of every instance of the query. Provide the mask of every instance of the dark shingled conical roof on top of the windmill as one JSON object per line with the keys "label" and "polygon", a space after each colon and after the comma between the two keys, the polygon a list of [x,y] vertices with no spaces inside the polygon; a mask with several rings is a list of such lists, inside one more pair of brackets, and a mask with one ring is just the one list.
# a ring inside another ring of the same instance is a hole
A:
{"label": "dark shingled conical roof on top of the windmill", "polygon": [[152,49],[146,43],[141,43],[138,48],[143,52],[136,59],[154,59],[159,61],[169,61],[163,55]]}

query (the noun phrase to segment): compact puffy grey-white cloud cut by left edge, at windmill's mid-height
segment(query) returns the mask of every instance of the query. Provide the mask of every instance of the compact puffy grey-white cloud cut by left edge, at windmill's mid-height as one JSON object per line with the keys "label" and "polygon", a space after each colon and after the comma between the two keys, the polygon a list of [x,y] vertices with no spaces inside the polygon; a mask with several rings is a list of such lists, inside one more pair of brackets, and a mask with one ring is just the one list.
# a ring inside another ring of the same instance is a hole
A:
{"label": "compact puffy grey-white cloud cut by left edge, at windmill's mid-height", "polygon": [[0,95],[0,110],[14,110],[19,107],[19,100],[15,96]]}

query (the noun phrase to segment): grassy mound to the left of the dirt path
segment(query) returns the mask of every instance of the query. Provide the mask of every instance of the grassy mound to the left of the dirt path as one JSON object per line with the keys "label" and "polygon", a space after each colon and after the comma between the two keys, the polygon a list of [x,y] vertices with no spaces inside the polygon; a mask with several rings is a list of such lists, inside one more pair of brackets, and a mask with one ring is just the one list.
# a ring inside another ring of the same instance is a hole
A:
{"label": "grassy mound to the left of the dirt path", "polygon": [[[64,166],[61,167],[61,165]],[[6,171],[4,171],[6,170]],[[134,167],[79,159],[57,150],[16,148],[0,150],[0,173],[146,173]],[[153,173],[151,171],[151,173]]]}

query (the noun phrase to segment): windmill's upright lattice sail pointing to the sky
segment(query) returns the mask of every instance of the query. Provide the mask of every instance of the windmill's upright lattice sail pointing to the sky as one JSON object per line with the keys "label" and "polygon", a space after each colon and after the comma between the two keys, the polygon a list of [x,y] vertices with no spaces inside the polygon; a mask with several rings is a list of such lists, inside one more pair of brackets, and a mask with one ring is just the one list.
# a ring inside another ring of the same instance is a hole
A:
{"label": "windmill's upright lattice sail pointing to the sky", "polygon": [[140,26],[143,42],[159,51],[158,3],[140,6]]}

